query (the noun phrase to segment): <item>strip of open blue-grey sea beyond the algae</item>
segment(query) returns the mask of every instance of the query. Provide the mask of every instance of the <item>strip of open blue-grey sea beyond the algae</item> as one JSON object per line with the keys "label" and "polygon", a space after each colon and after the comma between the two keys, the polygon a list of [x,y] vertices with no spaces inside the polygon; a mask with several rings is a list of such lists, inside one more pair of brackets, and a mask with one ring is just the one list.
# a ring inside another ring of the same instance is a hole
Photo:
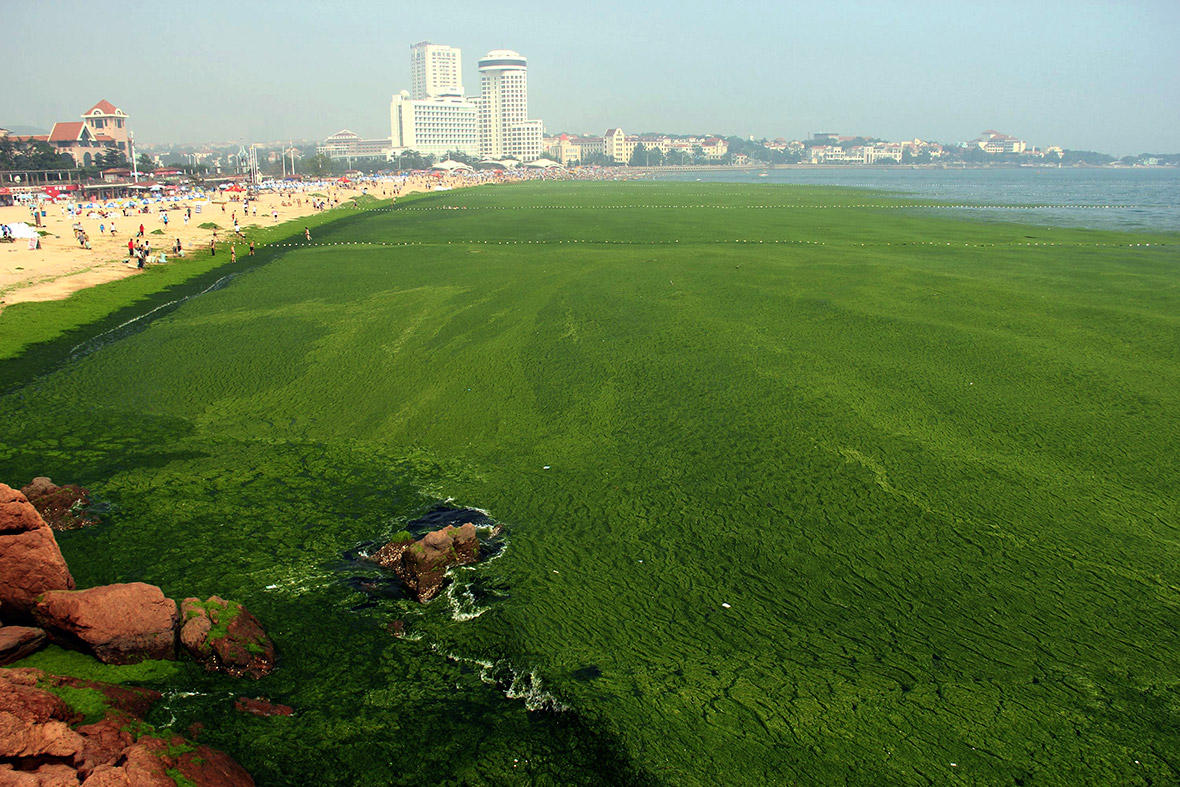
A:
{"label": "strip of open blue-grey sea beyond the algae", "polygon": [[877,189],[945,203],[932,210],[984,221],[1180,232],[1178,168],[717,168],[660,173],[654,179]]}

